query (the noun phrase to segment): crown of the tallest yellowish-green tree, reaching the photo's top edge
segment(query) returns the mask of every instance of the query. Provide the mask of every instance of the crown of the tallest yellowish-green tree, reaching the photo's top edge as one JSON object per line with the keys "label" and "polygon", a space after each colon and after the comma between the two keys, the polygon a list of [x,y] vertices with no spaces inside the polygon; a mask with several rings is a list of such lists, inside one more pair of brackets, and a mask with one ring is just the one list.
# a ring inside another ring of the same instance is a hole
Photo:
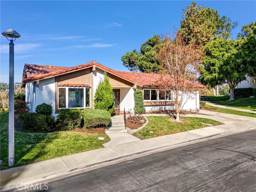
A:
{"label": "crown of the tallest yellowish-green tree, reaching the photo's top edge", "polygon": [[217,36],[228,38],[238,23],[231,23],[226,16],[220,18],[218,10],[202,6],[196,6],[196,2],[192,2],[190,6],[183,8],[180,32],[187,44],[204,46]]}

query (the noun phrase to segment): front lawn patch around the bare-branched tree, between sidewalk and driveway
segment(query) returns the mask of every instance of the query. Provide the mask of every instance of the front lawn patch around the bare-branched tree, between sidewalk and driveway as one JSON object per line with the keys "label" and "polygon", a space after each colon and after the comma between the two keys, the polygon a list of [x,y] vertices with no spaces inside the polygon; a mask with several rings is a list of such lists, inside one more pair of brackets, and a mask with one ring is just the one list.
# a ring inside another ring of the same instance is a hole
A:
{"label": "front lawn patch around the bare-branched tree, between sidewalk and driveway", "polygon": [[152,137],[164,136],[168,134],[185,132],[193,129],[207,127],[205,124],[221,125],[221,122],[197,117],[182,117],[186,122],[171,122],[170,116],[148,116],[148,124],[133,134],[140,139],[148,139]]}

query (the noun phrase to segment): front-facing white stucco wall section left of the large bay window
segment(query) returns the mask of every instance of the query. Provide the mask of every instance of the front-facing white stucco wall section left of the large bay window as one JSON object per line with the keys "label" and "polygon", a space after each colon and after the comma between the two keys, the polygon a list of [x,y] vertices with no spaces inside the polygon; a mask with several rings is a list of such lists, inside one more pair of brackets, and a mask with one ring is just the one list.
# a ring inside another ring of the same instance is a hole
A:
{"label": "front-facing white stucco wall section left of the large bay window", "polygon": [[39,86],[36,87],[36,102],[33,106],[33,111],[36,109],[36,106],[42,103],[52,105],[52,114],[57,116],[58,114],[54,113],[55,108],[55,78],[49,78],[45,80],[40,80]]}

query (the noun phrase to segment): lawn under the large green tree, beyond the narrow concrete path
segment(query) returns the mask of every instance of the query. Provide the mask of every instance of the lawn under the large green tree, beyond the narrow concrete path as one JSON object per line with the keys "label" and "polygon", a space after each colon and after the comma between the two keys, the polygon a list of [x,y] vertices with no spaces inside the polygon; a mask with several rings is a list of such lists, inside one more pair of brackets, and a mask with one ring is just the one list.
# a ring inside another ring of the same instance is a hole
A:
{"label": "lawn under the large green tree, beyond the narrow concrete path", "polygon": [[208,96],[208,97],[209,97],[209,102],[212,102],[212,103],[256,111],[256,98],[234,97],[235,100],[227,101],[229,99],[228,95]]}

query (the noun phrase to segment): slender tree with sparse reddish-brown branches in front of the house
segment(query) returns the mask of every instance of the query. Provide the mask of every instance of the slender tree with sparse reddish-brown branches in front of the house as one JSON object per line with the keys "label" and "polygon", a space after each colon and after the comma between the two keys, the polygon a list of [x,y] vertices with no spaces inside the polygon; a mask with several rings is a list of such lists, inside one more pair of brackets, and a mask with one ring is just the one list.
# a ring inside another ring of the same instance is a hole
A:
{"label": "slender tree with sparse reddish-brown branches in front of the house", "polygon": [[158,87],[160,92],[172,90],[176,122],[180,122],[179,114],[184,104],[195,96],[196,87],[203,87],[196,83],[203,52],[195,44],[187,45],[179,32],[174,36],[163,35],[164,43],[158,50],[158,59],[162,63]]}

